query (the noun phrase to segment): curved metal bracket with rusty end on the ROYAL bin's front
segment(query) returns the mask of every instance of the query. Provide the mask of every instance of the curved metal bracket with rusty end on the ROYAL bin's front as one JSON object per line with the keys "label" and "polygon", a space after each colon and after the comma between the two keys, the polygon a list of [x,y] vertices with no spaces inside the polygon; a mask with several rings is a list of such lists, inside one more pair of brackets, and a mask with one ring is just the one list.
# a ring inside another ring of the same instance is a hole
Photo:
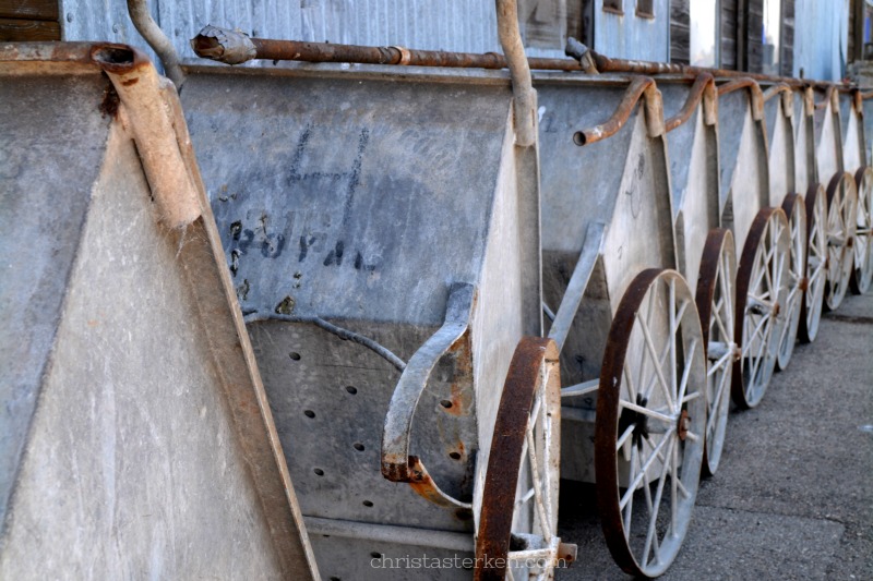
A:
{"label": "curved metal bracket with rusty end on the ROYAL bin's front", "polygon": [[[391,397],[382,432],[382,475],[392,482],[408,483],[416,493],[435,505],[455,509],[470,509],[471,505],[440,489],[419,458],[409,455],[409,441],[418,401],[436,363],[453,350],[462,351],[462,358],[469,355],[469,322],[475,302],[476,288],[473,285],[452,286],[445,322],[406,364]],[[473,389],[471,373],[466,373],[462,380]]]}

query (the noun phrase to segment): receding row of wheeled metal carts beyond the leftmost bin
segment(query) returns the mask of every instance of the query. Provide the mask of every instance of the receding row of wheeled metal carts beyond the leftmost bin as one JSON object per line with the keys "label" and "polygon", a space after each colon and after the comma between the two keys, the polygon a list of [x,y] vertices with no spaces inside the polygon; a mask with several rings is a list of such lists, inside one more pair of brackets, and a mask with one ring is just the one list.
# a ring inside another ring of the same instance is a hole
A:
{"label": "receding row of wheeled metal carts beyond the leftmost bin", "polygon": [[561,480],[596,485],[624,571],[663,573],[731,400],[761,404],[871,285],[854,87],[534,66],[521,95],[518,71],[514,92],[392,47],[404,66],[190,64],[176,97],[130,83],[154,76],[134,49],[61,47],[4,46],[3,83],[101,102],[179,247],[194,222],[220,238],[323,579],[408,579],[380,564],[422,556],[463,558],[416,577],[550,579],[575,558]]}

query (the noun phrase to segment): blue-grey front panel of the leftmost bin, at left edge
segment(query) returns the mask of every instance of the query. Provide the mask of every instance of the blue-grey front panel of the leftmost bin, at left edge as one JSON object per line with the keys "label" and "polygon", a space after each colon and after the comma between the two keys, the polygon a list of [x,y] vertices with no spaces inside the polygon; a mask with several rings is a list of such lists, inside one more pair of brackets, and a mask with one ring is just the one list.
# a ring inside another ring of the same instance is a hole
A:
{"label": "blue-grey front panel of the leftmost bin, at left edge", "polygon": [[0,523],[48,363],[109,122],[105,78],[0,77]]}

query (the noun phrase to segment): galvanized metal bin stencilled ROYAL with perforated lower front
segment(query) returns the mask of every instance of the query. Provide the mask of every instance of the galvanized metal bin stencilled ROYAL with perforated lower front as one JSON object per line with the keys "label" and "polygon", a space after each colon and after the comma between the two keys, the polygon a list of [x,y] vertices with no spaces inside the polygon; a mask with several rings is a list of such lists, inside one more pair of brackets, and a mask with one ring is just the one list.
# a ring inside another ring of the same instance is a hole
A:
{"label": "galvanized metal bin stencilled ROYAL with perforated lower front", "polygon": [[[397,559],[473,557],[500,503],[482,496],[504,378],[541,325],[537,152],[514,144],[509,78],[187,74],[188,124],[321,574],[405,579]],[[504,479],[512,494],[517,477]],[[552,511],[557,475],[549,485]]]}

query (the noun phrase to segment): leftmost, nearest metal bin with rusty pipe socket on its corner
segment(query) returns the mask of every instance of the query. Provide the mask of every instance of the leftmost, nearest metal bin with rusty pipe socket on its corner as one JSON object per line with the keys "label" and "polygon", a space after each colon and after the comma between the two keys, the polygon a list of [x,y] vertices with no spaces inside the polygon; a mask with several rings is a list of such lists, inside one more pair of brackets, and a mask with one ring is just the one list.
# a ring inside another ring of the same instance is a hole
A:
{"label": "leftmost, nearest metal bin with rusty pipe socket on its corner", "polygon": [[5,44],[0,101],[0,578],[315,578],[176,89]]}

